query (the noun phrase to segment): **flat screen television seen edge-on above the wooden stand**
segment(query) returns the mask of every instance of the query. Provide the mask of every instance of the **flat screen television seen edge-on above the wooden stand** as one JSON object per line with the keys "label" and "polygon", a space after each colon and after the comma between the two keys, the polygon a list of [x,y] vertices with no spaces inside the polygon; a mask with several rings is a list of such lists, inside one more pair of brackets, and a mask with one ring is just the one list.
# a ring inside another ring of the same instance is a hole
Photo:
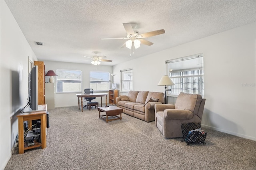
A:
{"label": "flat screen television seen edge-on above the wooden stand", "polygon": [[38,110],[38,66],[32,67],[28,75],[28,100],[31,111]]}

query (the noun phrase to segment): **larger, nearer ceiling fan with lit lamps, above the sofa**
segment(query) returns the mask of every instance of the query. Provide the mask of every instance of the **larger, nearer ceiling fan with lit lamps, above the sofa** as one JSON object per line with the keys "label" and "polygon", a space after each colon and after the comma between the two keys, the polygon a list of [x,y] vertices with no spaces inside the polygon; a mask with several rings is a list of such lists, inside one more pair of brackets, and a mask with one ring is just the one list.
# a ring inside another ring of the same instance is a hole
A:
{"label": "larger, nearer ceiling fan with lit lamps, above the sofa", "polygon": [[126,30],[126,33],[127,33],[126,37],[124,37],[124,38],[102,38],[101,40],[114,40],[114,39],[128,40],[120,48],[127,47],[127,48],[131,49],[133,47],[135,47],[135,48],[140,47],[141,43],[144,45],[152,45],[153,44],[152,42],[150,42],[148,40],[144,40],[143,38],[157,36],[157,35],[165,33],[165,31],[162,29],[162,30],[147,32],[144,34],[139,34],[139,32],[134,30],[132,27],[132,26],[135,27],[136,24],[123,23],[123,25],[124,25],[124,29]]}

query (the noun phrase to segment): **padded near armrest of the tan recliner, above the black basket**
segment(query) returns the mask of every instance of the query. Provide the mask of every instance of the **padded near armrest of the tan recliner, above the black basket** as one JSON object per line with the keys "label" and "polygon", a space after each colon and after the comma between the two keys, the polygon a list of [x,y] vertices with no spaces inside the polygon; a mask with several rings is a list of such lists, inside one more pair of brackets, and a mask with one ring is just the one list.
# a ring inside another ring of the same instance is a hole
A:
{"label": "padded near armrest of the tan recliner, above the black basket", "polygon": [[188,120],[192,119],[194,113],[189,110],[165,109],[163,119]]}

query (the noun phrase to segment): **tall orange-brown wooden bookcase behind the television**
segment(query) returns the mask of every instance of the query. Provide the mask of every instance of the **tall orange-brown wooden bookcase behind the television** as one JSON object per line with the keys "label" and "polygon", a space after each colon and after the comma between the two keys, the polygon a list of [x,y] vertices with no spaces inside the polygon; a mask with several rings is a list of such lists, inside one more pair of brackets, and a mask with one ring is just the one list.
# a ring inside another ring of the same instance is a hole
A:
{"label": "tall orange-brown wooden bookcase behind the television", "polygon": [[38,66],[38,105],[45,104],[45,66],[44,61],[34,61]]}

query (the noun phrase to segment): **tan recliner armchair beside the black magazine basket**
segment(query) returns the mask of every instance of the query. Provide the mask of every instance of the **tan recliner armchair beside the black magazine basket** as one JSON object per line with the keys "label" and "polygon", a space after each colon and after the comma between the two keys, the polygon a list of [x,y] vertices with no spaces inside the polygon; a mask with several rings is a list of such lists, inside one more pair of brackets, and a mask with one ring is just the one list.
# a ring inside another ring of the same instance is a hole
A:
{"label": "tan recliner armchair beside the black magazine basket", "polygon": [[165,138],[183,137],[181,123],[201,123],[204,103],[201,95],[180,93],[175,105],[156,104],[156,127]]}

